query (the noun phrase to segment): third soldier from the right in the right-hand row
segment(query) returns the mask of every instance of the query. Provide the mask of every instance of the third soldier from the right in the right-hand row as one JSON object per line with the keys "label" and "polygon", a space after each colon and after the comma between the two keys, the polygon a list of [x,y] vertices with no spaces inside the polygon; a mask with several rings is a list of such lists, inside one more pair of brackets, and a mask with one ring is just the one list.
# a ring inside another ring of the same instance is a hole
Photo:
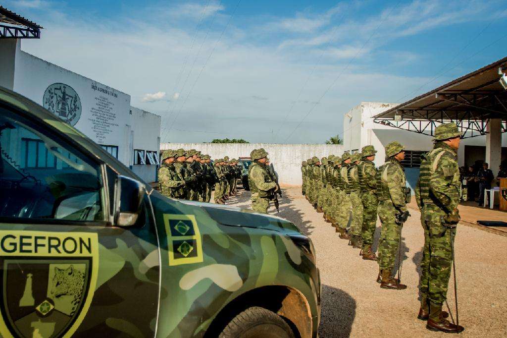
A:
{"label": "third soldier from the right in the right-hand row", "polygon": [[373,236],[377,224],[377,207],[379,200],[377,198],[377,182],[375,176],[377,169],[373,160],[377,151],[373,146],[364,146],[361,149],[363,160],[357,165],[359,174],[359,185],[361,187],[361,201],[363,201],[363,226],[361,227],[361,237],[363,238],[363,259],[377,260],[375,253],[372,252]]}

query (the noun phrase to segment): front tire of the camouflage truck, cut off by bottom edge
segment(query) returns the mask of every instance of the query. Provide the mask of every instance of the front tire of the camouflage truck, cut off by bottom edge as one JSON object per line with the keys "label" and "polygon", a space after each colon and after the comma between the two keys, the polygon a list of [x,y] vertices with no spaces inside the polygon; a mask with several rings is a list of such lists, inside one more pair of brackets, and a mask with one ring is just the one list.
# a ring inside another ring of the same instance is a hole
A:
{"label": "front tire of the camouflage truck, cut off by bottom edge", "polygon": [[234,317],[219,338],[295,338],[291,327],[272,311],[251,307]]}

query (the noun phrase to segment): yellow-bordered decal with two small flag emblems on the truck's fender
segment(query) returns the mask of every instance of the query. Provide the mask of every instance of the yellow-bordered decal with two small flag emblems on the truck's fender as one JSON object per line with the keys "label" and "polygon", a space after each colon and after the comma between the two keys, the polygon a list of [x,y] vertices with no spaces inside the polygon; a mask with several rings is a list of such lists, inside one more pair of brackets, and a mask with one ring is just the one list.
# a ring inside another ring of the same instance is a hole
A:
{"label": "yellow-bordered decal with two small flag emblems on the truck's fender", "polygon": [[202,262],[202,242],[195,215],[164,214],[169,265]]}

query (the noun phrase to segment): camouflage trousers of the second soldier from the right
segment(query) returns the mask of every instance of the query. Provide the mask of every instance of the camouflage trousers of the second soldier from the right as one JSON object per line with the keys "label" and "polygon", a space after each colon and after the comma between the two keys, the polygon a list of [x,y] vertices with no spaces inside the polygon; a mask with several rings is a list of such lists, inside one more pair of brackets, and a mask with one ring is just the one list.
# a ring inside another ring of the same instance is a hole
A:
{"label": "camouflage trousers of the second soldier from the right", "polygon": [[377,211],[382,222],[378,249],[379,267],[381,270],[392,270],[398,254],[403,224],[395,222],[398,211],[391,201],[380,201]]}

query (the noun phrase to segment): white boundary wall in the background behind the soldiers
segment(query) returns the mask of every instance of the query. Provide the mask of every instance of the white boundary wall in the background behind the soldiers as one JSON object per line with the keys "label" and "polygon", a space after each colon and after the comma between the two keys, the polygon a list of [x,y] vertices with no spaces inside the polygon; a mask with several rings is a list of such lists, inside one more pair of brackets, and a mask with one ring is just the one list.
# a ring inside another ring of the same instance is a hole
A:
{"label": "white boundary wall in the background behind the soldiers", "polygon": [[211,158],[248,157],[253,149],[264,148],[273,163],[282,185],[300,186],[301,162],[308,158],[341,155],[343,146],[327,144],[269,144],[269,143],[162,143],[160,149],[197,149]]}

